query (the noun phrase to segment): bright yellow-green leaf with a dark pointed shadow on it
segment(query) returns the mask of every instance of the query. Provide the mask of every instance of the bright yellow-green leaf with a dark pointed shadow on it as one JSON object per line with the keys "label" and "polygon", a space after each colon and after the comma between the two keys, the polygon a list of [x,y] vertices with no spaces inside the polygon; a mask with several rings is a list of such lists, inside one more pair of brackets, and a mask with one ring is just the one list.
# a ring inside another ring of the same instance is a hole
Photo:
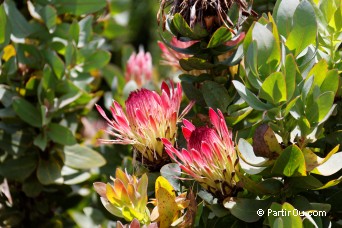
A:
{"label": "bright yellow-green leaf with a dark pointed shadow on it", "polygon": [[273,104],[286,101],[286,84],[281,72],[275,72],[266,78],[262,83],[259,97]]}

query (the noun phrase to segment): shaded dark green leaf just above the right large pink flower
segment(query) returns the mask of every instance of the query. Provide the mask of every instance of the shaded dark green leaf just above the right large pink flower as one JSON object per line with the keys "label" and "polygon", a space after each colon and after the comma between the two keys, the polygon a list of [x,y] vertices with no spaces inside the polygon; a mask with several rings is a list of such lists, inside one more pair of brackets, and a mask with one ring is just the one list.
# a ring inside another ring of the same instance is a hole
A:
{"label": "shaded dark green leaf just above the right large pink flower", "polygon": [[205,81],[201,91],[208,107],[213,109],[220,109],[222,112],[226,112],[228,105],[232,102],[227,89],[216,82]]}

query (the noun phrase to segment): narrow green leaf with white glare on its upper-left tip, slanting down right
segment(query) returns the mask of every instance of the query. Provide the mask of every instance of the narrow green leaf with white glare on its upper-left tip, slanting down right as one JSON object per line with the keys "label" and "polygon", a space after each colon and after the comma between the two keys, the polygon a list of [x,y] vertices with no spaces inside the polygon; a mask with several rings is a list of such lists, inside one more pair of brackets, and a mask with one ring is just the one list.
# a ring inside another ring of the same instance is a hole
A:
{"label": "narrow green leaf with white glare on its upper-left tip, slanting down right", "polygon": [[244,99],[252,108],[259,111],[264,111],[270,108],[269,105],[261,102],[251,91],[249,91],[241,82],[233,80],[235,89],[239,95]]}

